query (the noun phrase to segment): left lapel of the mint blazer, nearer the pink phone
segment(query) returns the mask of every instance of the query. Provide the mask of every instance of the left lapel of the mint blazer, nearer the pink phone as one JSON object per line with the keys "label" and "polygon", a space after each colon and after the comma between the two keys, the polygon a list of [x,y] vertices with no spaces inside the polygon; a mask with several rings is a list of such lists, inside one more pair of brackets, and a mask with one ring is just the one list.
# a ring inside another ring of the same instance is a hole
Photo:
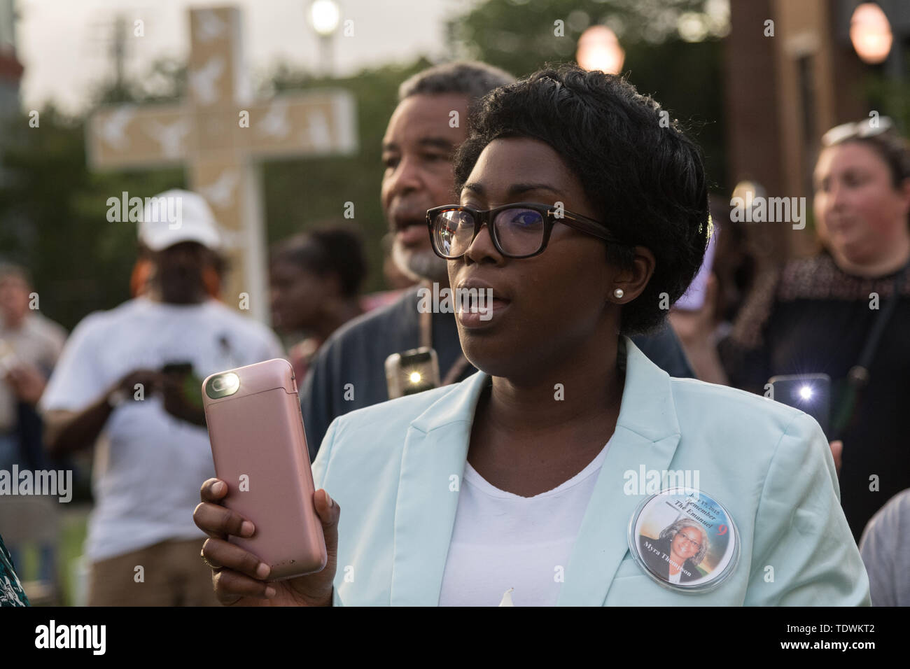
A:
{"label": "left lapel of the mint blazer, nearer the pink phone", "polygon": [[436,606],[449,554],[470,426],[489,377],[471,375],[411,421],[401,454],[390,603]]}

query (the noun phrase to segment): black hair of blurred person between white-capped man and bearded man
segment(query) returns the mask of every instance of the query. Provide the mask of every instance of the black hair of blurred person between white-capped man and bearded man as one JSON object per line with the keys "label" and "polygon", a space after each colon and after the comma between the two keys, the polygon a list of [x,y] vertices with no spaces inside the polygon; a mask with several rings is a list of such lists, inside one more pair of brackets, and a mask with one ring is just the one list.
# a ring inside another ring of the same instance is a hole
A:
{"label": "black hair of blurred person between white-capped man and bearded man", "polygon": [[367,275],[359,233],[341,223],[323,225],[279,242],[272,250],[271,261],[289,262],[320,277],[334,273],[345,298],[357,297]]}

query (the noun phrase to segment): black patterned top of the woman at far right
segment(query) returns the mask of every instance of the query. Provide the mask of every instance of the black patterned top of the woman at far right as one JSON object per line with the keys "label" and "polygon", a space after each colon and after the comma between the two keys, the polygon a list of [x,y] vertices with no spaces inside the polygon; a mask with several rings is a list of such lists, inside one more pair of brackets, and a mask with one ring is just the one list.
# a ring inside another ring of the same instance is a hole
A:
{"label": "black patterned top of the woman at far right", "polygon": [[[832,406],[858,361],[899,272],[868,279],[847,274],[830,254],[795,259],[756,279],[749,299],[719,344],[731,385],[763,393],[778,374],[824,373]],[[910,488],[910,276],[869,365],[869,384],[843,432],[841,502],[854,537],[897,492]]]}

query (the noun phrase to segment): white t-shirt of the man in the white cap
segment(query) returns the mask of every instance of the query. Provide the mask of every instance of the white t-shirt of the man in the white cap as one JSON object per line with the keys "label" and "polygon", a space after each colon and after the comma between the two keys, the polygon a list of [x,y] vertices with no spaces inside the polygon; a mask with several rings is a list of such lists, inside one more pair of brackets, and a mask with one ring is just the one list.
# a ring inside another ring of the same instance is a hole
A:
{"label": "white t-shirt of the man in the white cap", "polygon": [[[39,407],[81,411],[129,372],[168,362],[192,362],[201,380],[280,357],[270,329],[214,299],[197,305],[131,299],[76,326]],[[193,510],[202,481],[215,475],[204,427],[172,417],[160,397],[130,398],[111,413],[97,446],[89,560],[202,536]]]}

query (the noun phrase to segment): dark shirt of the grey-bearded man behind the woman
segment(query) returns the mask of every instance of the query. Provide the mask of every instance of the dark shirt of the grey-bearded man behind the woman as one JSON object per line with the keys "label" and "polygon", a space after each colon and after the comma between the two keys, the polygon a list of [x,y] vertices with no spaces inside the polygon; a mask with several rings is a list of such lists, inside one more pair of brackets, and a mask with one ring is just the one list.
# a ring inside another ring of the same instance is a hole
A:
{"label": "dark shirt of the grey-bearded man behind the woman", "polygon": [[[331,421],[349,411],[389,400],[386,358],[420,346],[418,301],[415,287],[388,307],[345,323],[319,350],[300,388],[310,461],[316,459]],[[432,314],[432,323],[433,349],[439,358],[440,377],[444,379],[461,356],[458,326],[450,313]],[[670,376],[694,378],[689,360],[670,326],[656,334],[632,337],[632,341]],[[468,364],[456,381],[467,379],[476,371]],[[352,399],[345,400],[346,394]]]}

